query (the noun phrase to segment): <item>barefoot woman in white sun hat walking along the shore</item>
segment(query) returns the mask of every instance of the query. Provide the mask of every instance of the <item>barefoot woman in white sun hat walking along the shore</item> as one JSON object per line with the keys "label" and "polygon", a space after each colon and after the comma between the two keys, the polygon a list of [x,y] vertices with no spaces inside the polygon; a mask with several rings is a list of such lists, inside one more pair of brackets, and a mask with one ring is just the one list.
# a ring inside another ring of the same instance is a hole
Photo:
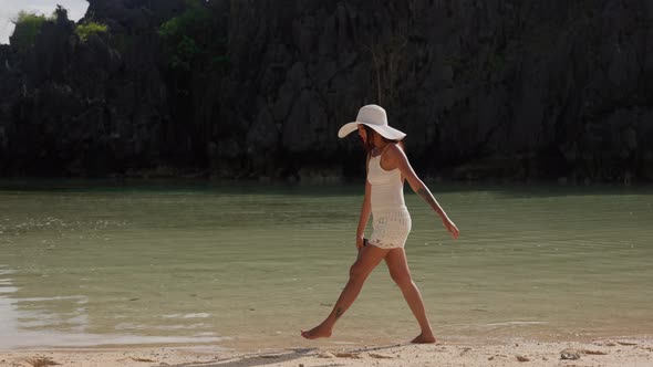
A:
{"label": "barefoot woman in white sun hat walking along the shore", "polygon": [[[361,107],[356,120],[342,126],[338,136],[343,138],[356,129],[367,150],[365,199],[356,231],[359,258],[350,269],[349,282],[331,314],[320,325],[302,332],[301,335],[308,339],[330,337],[335,322],[352,305],[367,275],[385,260],[392,279],[419,324],[421,333],[412,343],[435,343],[422,295],[411,279],[404,251],[404,243],[411,231],[411,216],[404,203],[404,180],[440,217],[454,239],[458,238],[458,229],[415,175],[401,143],[406,135],[387,125],[385,109],[377,105]],[[364,232],[370,214],[373,217],[373,231],[367,241]]]}

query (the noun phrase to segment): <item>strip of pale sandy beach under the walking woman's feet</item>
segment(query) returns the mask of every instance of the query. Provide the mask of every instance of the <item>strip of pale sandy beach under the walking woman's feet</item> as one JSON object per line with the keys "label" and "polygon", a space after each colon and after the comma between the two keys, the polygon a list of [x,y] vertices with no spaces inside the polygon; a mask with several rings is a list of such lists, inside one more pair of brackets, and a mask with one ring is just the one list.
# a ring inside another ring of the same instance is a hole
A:
{"label": "strip of pale sandy beach under the walking woman's feet", "polygon": [[0,353],[0,366],[653,366],[653,338],[591,342],[333,346],[284,348],[106,347]]}

